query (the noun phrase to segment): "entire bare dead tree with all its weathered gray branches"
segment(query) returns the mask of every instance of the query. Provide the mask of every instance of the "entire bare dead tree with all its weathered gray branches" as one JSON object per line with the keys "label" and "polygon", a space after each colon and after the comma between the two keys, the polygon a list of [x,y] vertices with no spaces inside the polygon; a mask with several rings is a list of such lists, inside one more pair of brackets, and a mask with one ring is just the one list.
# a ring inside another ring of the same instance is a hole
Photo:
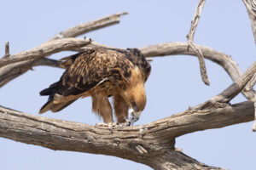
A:
{"label": "entire bare dead tree with all its weathered gray branches", "polygon": [[[253,35],[256,37],[254,13],[256,5],[252,0],[243,0],[243,2],[252,21]],[[254,62],[242,74],[236,62],[229,55],[195,44],[193,40],[195,28],[204,3],[205,0],[199,0],[187,36],[188,42],[166,42],[140,49],[148,59],[178,54],[197,56],[201,64],[201,77],[206,84],[209,84],[209,81],[204,59],[210,59],[222,66],[234,81],[223,92],[201,105],[189,107],[187,111],[143,126],[113,127],[113,133],[110,133],[108,127],[93,127],[78,122],[33,116],[0,106],[0,137],[26,144],[36,144],[52,150],[117,156],[159,170],[222,169],[207,166],[184,155],[175,148],[175,139],[187,133],[253,121],[255,92],[252,87],[256,82],[256,63]],[[61,31],[39,47],[19,54],[10,54],[9,43],[6,43],[5,55],[0,59],[0,88],[31,70],[33,66],[47,65],[61,68],[61,61],[46,58],[50,54],[64,50],[83,51],[85,48],[107,47],[91,42],[88,38],[77,39],[75,37],[88,31],[117,24],[123,14],[127,13],[113,14],[74,26]],[[239,93],[244,94],[248,101],[230,105],[230,100]]]}

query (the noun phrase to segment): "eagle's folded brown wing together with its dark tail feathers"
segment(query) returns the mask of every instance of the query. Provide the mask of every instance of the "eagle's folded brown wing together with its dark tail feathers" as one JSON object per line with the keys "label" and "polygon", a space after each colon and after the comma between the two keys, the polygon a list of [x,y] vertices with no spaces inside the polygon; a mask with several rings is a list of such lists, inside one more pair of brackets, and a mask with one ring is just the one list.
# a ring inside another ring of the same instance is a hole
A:
{"label": "eagle's folded brown wing together with its dark tail feathers", "polygon": [[90,49],[62,60],[67,70],[59,82],[40,92],[49,95],[49,99],[39,113],[61,111],[103,82],[125,87],[125,78],[130,77],[133,65],[125,54],[106,48]]}

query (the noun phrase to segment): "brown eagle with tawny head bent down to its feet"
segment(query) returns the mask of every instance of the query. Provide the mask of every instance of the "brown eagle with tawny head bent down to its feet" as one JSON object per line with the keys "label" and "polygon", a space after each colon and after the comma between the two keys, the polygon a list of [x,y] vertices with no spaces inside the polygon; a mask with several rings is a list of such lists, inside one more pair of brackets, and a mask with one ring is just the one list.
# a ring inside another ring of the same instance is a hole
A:
{"label": "brown eagle with tawny head bent down to its feet", "polygon": [[[61,60],[66,71],[58,82],[40,92],[49,96],[40,114],[61,111],[75,100],[90,96],[92,111],[109,128],[129,126],[139,119],[147,102],[144,83],[151,71],[139,49],[90,48]],[[109,97],[113,97],[113,109]],[[113,110],[117,123],[113,122]]]}

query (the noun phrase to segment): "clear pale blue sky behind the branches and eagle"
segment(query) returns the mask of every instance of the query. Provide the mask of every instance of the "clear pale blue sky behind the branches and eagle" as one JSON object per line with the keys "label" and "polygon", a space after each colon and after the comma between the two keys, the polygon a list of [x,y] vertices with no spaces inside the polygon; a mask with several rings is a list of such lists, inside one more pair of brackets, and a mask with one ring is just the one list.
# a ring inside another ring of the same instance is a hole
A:
{"label": "clear pale blue sky behind the branches and eagle", "polygon": [[[116,26],[88,33],[95,42],[119,48],[140,48],[160,42],[186,42],[197,0],[172,1],[0,1],[0,52],[10,43],[10,53],[34,48],[59,31],[79,23],[122,11],[129,12]],[[255,44],[250,20],[242,1],[207,1],[195,42],[230,54],[241,71],[255,61]],[[60,59],[71,54],[51,56]],[[148,104],[137,124],[185,111],[227,88],[232,82],[224,69],[206,61],[211,85],[201,82],[198,60],[190,56],[155,58],[146,83]],[[0,105],[38,114],[47,98],[39,91],[61,77],[63,70],[35,67],[0,88]],[[232,104],[246,100],[241,94]],[[59,113],[43,116],[95,125],[90,99],[79,99]],[[177,138],[176,146],[198,161],[230,169],[255,169],[256,133],[253,122],[190,133]],[[0,138],[1,169],[150,169],[112,156],[54,151]]]}

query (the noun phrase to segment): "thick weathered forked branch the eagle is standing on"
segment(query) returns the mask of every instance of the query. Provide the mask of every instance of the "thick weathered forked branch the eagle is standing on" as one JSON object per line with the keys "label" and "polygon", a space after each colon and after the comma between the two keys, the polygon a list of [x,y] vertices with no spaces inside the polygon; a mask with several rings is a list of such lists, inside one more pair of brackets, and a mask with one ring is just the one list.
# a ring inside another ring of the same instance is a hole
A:
{"label": "thick weathered forked branch the eagle is standing on", "polygon": [[174,150],[174,139],[186,133],[249,122],[253,114],[253,102],[247,101],[193,114],[184,111],[142,126],[113,127],[111,133],[108,127],[33,116],[0,106],[0,136],[52,150],[118,156],[154,169],[217,169]]}

